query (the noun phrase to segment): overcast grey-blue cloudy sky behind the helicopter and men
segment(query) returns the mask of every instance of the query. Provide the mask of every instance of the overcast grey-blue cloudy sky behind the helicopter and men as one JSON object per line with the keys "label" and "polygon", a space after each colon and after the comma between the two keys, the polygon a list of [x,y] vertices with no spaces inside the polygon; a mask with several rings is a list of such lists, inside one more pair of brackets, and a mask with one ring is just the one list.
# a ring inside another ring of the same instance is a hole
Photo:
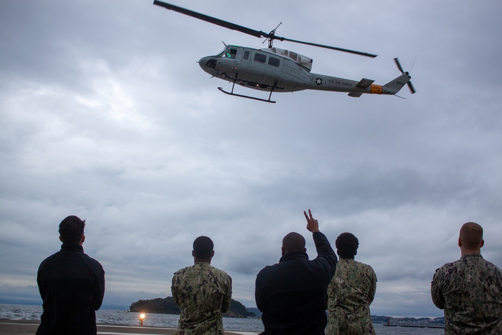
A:
{"label": "overcast grey-blue cloudy sky behind the helicopter and men", "polygon": [[385,84],[399,57],[417,90],[272,104],[219,92],[231,84],[196,63],[222,41],[262,40],[152,2],[0,2],[0,299],[40,300],[38,266],[71,214],[105,269],[105,305],[170,296],[206,235],[233,298],[255,307],[256,275],[287,233],[317,256],[309,208],[333,246],[358,237],[356,260],[378,277],[371,314],[442,316],[430,281],[460,257],[464,222],[483,226],[482,254],[502,266],[502,3],[172,0],[379,55],[275,42],[312,57],[315,73]]}

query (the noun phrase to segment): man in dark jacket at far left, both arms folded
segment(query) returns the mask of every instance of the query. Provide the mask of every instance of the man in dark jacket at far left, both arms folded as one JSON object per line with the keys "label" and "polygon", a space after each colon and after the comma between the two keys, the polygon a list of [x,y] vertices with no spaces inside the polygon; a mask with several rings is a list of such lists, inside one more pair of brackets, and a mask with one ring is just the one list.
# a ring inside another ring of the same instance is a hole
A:
{"label": "man in dark jacket at far left, both arms folded", "polygon": [[37,335],[96,334],[96,310],[104,296],[104,270],[84,254],[85,220],[70,215],[59,224],[61,250],[38,269],[43,313]]}

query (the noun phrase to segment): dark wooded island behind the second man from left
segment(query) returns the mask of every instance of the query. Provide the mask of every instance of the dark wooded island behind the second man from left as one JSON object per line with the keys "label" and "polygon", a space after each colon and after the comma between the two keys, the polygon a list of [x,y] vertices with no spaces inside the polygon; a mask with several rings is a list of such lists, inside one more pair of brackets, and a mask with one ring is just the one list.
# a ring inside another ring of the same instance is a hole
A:
{"label": "dark wooded island behind the second man from left", "polygon": [[[129,310],[132,312],[157,313],[157,314],[179,314],[180,309],[176,306],[173,297],[155,298],[148,300],[138,300],[131,304]],[[246,307],[233,300],[230,309],[224,313],[225,317],[257,317],[255,313],[246,310]]]}

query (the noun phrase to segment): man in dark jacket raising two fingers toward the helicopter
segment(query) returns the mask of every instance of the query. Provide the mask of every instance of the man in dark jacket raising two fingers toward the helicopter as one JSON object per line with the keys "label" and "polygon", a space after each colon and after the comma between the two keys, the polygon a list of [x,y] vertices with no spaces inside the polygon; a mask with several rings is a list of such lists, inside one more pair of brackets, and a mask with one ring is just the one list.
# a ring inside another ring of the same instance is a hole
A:
{"label": "man in dark jacket raising two fingers toward the helicopter", "polygon": [[307,230],[312,232],[317,258],[310,261],[305,239],[289,233],[283,239],[279,263],[266,266],[257,275],[255,300],[263,312],[263,335],[324,334],[326,298],[337,258],[319,223],[304,211]]}

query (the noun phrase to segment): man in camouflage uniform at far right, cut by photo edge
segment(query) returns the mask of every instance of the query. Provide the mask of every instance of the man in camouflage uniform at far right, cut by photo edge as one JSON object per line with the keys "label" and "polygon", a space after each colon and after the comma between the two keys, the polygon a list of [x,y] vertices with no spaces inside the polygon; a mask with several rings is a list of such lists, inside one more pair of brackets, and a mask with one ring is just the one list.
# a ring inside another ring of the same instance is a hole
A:
{"label": "man in camouflage uniform at far right, cut by photo edge", "polygon": [[436,270],[434,304],[444,309],[445,334],[502,334],[502,271],[481,256],[483,229],[467,222],[460,229],[461,257]]}

